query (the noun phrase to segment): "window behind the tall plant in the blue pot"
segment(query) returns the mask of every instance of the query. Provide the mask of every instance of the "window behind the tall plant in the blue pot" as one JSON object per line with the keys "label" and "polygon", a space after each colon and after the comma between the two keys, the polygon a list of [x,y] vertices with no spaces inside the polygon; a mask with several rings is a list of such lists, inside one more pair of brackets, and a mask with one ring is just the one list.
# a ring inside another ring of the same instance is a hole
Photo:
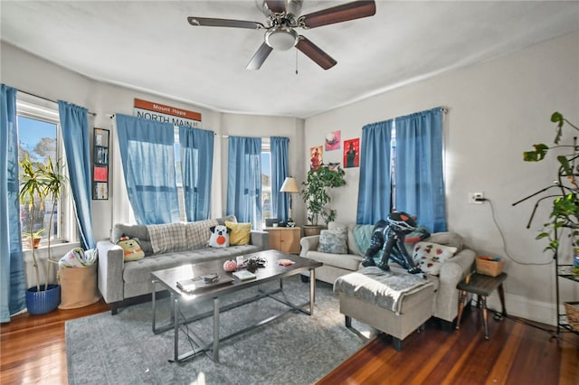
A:
{"label": "window behind the tall plant in the blue pot", "polygon": [[[60,130],[58,105],[51,101],[36,98],[27,94],[18,93],[16,100],[17,124],[18,124],[18,160],[22,161],[24,155],[28,155],[33,162],[48,163],[49,157],[52,163],[62,158],[64,151]],[[66,170],[64,170],[66,172]],[[22,172],[22,170],[20,170]],[[52,209],[55,209],[52,217],[51,233],[48,234],[51,221]],[[40,205],[36,206],[39,212]],[[28,205],[24,202],[20,206],[21,229],[30,231],[31,215]],[[43,240],[50,237],[51,241],[77,241],[78,227],[73,215],[71,193],[68,188],[62,193],[59,202],[47,200],[44,202],[43,215],[34,218],[33,231],[43,229]],[[23,239],[24,240],[24,239]],[[24,241],[23,248],[29,249],[29,243]]]}

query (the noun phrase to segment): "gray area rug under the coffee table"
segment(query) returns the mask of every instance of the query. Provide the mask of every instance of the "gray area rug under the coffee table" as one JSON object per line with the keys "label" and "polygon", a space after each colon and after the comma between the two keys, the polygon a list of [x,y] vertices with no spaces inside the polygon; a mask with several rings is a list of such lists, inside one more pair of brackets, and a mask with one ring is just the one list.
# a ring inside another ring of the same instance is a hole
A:
{"label": "gray area rug under the coffee table", "polygon": [[[299,276],[285,278],[283,283],[283,293],[276,296],[293,304],[308,300],[309,286],[302,283]],[[271,283],[267,287],[277,285]],[[256,289],[248,288],[224,297],[221,305],[252,296]],[[212,305],[206,302],[181,308],[187,316],[209,310]],[[157,315],[165,315],[160,321],[164,324],[169,314],[169,298],[158,300],[157,306]],[[242,305],[220,316],[220,333],[226,335],[241,330],[283,308],[284,305],[271,298]],[[356,321],[353,324],[367,330],[363,324]],[[180,354],[191,349],[185,332],[210,342],[213,317],[182,327]],[[169,362],[173,358],[174,334],[172,330],[157,335],[152,332],[150,303],[129,306],[118,315],[103,313],[68,321],[65,333],[71,385],[309,384],[335,369],[366,343],[346,329],[337,296],[332,286],[325,283],[316,286],[313,316],[291,312],[271,324],[223,342],[220,362],[213,362],[204,353],[187,362]]]}

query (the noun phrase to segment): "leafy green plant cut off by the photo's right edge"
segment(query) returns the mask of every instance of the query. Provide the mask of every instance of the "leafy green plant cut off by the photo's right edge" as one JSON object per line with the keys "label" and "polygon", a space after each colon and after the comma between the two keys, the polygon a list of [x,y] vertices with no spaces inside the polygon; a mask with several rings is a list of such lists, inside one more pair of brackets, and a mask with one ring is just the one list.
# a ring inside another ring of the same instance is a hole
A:
{"label": "leafy green plant cut off by the photo's right edge", "polygon": [[[534,150],[523,153],[523,159],[526,162],[540,162],[545,159],[550,149],[568,148],[572,150],[571,154],[557,156],[559,167],[556,183],[539,191],[544,192],[555,188],[555,193],[547,195],[536,202],[536,204],[538,204],[543,199],[553,198],[553,209],[549,216],[549,221],[544,224],[543,230],[536,236],[536,239],[548,239],[549,243],[545,250],[552,250],[556,253],[559,248],[559,240],[563,235],[563,229],[570,229],[571,236],[574,239],[579,235],[579,181],[577,180],[577,168],[574,166],[575,161],[579,158],[577,151],[579,150],[579,146],[577,146],[576,141],[574,145],[559,145],[565,123],[578,131],[579,127],[569,122],[559,112],[553,113],[551,121],[557,124],[554,140],[555,146],[549,147],[543,143],[534,145]],[[519,202],[535,196],[536,193],[531,194]],[[535,211],[533,211],[533,213],[535,213]],[[532,220],[533,216],[531,215],[527,227],[530,226]]]}

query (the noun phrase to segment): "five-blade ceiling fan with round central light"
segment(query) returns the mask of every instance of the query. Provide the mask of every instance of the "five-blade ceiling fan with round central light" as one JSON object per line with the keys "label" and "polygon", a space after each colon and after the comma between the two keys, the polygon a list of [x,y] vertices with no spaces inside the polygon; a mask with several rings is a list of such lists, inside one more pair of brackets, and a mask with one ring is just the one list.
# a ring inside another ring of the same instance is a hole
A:
{"label": "five-blade ceiling fan with round central light", "polygon": [[187,17],[187,21],[194,26],[265,30],[264,42],[261,43],[260,48],[253,54],[252,60],[247,64],[248,70],[259,70],[271,51],[285,51],[292,47],[296,47],[303,52],[324,70],[329,70],[336,65],[337,61],[326,52],[323,52],[316,44],[309,41],[307,37],[297,33],[295,28],[317,28],[323,25],[372,16],[376,12],[376,5],[374,0],[372,0],[346,3],[300,16],[299,12],[301,11],[302,3],[303,0],[263,0],[261,9],[268,18],[265,24],[196,16]]}

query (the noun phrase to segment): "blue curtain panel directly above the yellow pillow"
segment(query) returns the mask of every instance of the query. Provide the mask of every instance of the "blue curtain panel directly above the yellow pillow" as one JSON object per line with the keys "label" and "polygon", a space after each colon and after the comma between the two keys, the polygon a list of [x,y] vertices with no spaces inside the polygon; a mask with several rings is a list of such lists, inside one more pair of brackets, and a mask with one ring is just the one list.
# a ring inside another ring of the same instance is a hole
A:
{"label": "blue curtain panel directly above the yellow pillow", "polygon": [[230,136],[227,159],[227,215],[259,229],[261,215],[261,137]]}

